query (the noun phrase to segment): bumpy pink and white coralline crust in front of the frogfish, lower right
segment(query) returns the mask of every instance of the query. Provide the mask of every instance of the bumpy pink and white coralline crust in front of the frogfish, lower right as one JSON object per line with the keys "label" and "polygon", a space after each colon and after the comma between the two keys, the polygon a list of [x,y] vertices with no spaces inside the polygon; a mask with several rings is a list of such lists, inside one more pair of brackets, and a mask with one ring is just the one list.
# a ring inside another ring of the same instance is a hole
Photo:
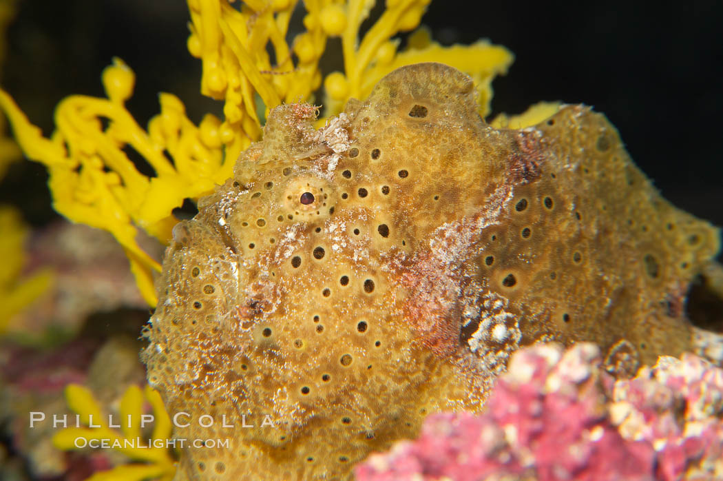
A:
{"label": "bumpy pink and white coralline crust in front of the frogfish, lower right", "polygon": [[430,416],[358,481],[723,480],[723,370],[692,354],[615,380],[599,349],[533,346],[483,414]]}

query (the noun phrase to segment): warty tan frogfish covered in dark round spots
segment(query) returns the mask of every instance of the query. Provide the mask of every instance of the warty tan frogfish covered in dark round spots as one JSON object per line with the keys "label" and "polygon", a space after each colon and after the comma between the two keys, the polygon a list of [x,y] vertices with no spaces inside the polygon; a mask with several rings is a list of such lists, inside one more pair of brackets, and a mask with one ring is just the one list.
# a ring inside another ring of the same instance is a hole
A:
{"label": "warty tan frogfish covered in dark round spots", "polygon": [[174,229],[148,380],[176,437],[230,440],[184,448],[176,480],[351,479],[427,414],[479,412],[527,344],[592,341],[616,375],[723,357],[684,309],[719,231],[664,200],[602,114],[495,129],[469,77],[427,63],[315,116],[271,111]]}

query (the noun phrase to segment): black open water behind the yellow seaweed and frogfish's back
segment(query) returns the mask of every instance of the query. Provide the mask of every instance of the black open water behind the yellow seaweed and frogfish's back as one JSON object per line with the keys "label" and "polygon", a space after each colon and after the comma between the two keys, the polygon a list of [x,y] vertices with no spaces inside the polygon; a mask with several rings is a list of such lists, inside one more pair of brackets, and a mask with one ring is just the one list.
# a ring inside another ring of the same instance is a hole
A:
{"label": "black open water behind the yellow seaweed and frogfish's back", "polygon": [[[723,2],[480,1],[482,14],[471,11],[476,4],[432,1],[423,22],[442,43],[489,38],[514,52],[510,72],[494,82],[495,113],[541,100],[594,106],[665,197],[723,225]],[[184,1],[25,0],[19,7],[2,85],[46,134],[65,95],[103,95],[100,72],[113,56],[137,74],[128,106],[142,125],[158,112],[161,90],[179,95],[194,122],[220,112],[198,93],[200,61],[186,50]],[[327,72],[340,66],[338,58],[325,65]],[[52,216],[45,181],[41,166],[18,164],[0,201],[44,224]]]}

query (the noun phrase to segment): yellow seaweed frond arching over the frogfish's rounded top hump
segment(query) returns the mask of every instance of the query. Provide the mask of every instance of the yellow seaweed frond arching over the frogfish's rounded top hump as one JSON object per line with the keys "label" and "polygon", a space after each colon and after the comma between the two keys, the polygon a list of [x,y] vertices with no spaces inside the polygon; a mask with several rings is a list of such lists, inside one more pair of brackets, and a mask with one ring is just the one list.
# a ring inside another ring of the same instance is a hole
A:
{"label": "yellow seaweed frond arching over the frogfish's rounded top hump", "polygon": [[429,1],[400,0],[387,3],[395,7],[388,7],[377,24],[364,35],[359,48],[355,48],[356,30],[352,31],[351,24],[347,25],[342,38],[346,75],[333,72],[326,77],[324,86],[328,108],[325,114],[338,114],[351,97],[366,98],[377,82],[394,69],[424,61],[441,61],[472,77],[478,93],[479,114],[487,116],[489,101],[492,99],[492,79],[507,72],[514,60],[513,54],[504,47],[493,46],[483,40],[470,46],[443,47],[433,42],[424,28],[410,36],[405,51],[397,52],[398,42],[390,38],[400,31],[411,30],[419,25],[419,17]]}

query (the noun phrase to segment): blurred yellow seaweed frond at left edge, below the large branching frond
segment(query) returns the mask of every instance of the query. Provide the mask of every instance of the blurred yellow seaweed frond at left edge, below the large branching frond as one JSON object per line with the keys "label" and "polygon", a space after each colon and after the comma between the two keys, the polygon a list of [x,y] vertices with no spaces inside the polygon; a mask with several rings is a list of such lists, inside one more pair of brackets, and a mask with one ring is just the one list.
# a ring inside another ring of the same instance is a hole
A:
{"label": "blurred yellow seaweed frond at left edge, below the large branching frond", "polygon": [[43,294],[51,282],[50,269],[31,276],[22,276],[25,266],[27,226],[14,208],[0,205],[0,334],[7,330],[10,319]]}

